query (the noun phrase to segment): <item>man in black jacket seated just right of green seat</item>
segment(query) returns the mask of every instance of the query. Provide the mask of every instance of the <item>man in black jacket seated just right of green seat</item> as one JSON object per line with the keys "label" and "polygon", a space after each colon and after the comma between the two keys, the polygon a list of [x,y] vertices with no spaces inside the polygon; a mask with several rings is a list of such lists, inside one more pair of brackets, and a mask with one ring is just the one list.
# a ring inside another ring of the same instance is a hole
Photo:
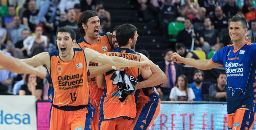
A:
{"label": "man in black jacket seated just right of green seat", "polygon": [[[177,42],[183,43],[187,49],[191,49],[192,38],[194,38],[194,45],[199,46],[199,32],[193,29],[193,24],[190,19],[185,19],[185,29],[180,31],[177,35]],[[186,38],[185,38],[186,37]]]}

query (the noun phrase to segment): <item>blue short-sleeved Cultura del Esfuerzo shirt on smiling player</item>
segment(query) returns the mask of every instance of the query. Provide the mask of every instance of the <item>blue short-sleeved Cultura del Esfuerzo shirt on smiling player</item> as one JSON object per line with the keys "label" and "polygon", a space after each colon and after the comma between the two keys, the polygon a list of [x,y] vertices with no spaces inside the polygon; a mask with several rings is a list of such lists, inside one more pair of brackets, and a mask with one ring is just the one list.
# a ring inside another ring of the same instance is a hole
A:
{"label": "blue short-sleeved Cultura del Esfuerzo shirt on smiling player", "polygon": [[256,107],[256,44],[245,42],[234,50],[233,44],[220,49],[211,59],[223,65],[227,76],[227,112],[239,108],[255,111]]}

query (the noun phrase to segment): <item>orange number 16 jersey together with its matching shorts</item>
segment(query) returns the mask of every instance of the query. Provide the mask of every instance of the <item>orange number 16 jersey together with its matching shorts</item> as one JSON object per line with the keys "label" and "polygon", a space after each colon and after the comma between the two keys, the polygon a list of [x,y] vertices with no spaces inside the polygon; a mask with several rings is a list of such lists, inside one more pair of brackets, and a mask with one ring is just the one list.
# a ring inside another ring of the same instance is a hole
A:
{"label": "orange number 16 jersey together with its matching shorts", "polygon": [[49,53],[50,130],[88,130],[94,108],[89,101],[88,72],[82,49],[73,49],[74,57],[62,61],[59,51]]}

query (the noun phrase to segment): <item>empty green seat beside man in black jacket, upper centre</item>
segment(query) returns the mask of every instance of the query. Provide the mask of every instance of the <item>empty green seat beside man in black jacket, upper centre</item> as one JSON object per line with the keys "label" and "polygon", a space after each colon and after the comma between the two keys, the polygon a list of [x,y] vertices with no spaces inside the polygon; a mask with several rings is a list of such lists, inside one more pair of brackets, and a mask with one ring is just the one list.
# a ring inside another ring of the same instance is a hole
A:
{"label": "empty green seat beside man in black jacket, upper centre", "polygon": [[176,36],[178,33],[185,28],[184,23],[182,22],[170,22],[168,25],[168,36],[169,41],[176,42]]}

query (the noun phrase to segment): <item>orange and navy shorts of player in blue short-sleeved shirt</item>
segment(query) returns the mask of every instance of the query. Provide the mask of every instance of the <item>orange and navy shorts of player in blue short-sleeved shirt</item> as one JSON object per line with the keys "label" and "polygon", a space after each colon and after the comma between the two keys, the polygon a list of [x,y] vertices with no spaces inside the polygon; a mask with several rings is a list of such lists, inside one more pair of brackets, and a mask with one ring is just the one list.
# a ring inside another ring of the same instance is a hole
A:
{"label": "orange and navy shorts of player in blue short-sleeved shirt", "polygon": [[248,109],[237,109],[235,113],[227,115],[228,130],[251,130],[255,122],[255,112]]}

